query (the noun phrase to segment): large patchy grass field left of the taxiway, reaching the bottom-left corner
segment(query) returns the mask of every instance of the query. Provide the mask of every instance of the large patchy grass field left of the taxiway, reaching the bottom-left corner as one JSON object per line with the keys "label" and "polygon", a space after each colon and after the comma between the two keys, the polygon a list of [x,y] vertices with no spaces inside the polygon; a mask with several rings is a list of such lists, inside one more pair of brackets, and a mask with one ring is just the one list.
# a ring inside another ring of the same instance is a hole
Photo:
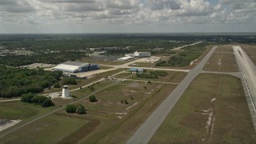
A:
{"label": "large patchy grass field left of the taxiway, reaching the bottom-left corner", "polygon": [[[101,87],[103,85],[105,86],[102,82]],[[87,114],[66,114],[65,110],[59,110],[55,114],[7,134],[0,141],[7,143],[126,142],[175,86],[177,85],[118,82],[96,93],[98,102],[92,103],[89,99],[78,102],[86,107]],[[87,91],[81,90],[76,95],[80,98],[86,93]],[[121,100],[127,100],[128,103],[122,103]]]}

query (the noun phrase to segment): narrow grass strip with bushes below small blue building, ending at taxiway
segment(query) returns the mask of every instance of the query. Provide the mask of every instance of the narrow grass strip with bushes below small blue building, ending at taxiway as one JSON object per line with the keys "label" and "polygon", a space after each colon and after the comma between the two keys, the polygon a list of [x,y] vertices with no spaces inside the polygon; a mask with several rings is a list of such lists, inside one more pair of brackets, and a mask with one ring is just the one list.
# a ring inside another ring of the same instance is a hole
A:
{"label": "narrow grass strip with bushes below small blue building, ending at taxiway", "polygon": [[[147,70],[147,72],[150,72],[150,70]],[[164,77],[158,77],[158,78],[138,78],[136,74],[130,74],[130,73],[121,73],[115,76],[115,78],[126,78],[127,76],[131,75],[129,79],[135,79],[135,80],[143,80],[143,81],[151,81],[151,82],[174,82],[179,83],[182,81],[183,78],[186,77],[185,72],[178,72],[178,71],[166,71],[167,75]]]}

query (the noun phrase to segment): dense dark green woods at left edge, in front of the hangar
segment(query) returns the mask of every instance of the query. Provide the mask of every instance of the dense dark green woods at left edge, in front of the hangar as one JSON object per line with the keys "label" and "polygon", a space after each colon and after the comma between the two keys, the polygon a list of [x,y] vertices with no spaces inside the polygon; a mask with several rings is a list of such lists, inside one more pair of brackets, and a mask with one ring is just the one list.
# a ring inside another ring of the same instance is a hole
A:
{"label": "dense dark green woods at left edge, in front of the hangar", "polygon": [[42,92],[57,83],[61,76],[61,71],[0,66],[0,97],[12,98]]}

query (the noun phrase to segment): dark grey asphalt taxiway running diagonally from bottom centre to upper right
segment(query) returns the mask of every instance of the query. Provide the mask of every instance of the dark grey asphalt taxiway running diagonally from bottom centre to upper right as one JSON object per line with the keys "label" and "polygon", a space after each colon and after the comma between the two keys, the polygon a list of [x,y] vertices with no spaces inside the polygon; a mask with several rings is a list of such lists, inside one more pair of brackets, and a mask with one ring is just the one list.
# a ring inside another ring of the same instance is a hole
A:
{"label": "dark grey asphalt taxiway running diagonally from bottom centre to upper right", "polygon": [[182,94],[190,83],[194,80],[198,74],[202,73],[202,67],[205,66],[206,62],[210,58],[210,55],[213,54],[217,46],[214,46],[205,58],[195,66],[190,72],[186,75],[186,78],[169,94],[164,102],[154,111],[153,114],[147,118],[146,122],[138,128],[138,130],[130,137],[126,144],[135,144],[135,143],[147,143],[150,141],[150,138],[158,130],[158,127],[166,119],[166,116],[170,113],[170,110],[174,107],[178,99],[182,97]]}

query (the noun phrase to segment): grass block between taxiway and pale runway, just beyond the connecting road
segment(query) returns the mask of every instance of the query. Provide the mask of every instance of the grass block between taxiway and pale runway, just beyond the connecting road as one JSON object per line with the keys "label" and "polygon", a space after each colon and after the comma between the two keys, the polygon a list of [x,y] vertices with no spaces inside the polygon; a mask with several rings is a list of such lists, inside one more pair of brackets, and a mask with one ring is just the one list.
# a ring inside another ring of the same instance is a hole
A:
{"label": "grass block between taxiway and pale runway, just beyond the connecting road", "polygon": [[214,53],[203,67],[207,71],[238,72],[234,54]]}

